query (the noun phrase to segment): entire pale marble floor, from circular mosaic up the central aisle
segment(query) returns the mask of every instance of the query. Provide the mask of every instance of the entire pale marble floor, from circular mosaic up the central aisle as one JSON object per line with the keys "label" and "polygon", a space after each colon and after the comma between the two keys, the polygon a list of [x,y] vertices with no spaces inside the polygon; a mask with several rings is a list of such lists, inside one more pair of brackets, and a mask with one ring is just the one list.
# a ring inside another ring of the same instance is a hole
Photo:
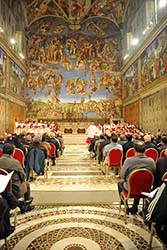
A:
{"label": "entire pale marble floor, from circular mosaic up the central aisle", "polygon": [[[142,218],[129,215],[125,224],[119,212],[117,182],[113,173],[102,175],[84,144],[67,144],[48,179],[31,182],[34,210],[18,212],[8,249],[150,249],[150,232]],[[0,249],[6,249],[3,240]],[[156,237],[152,249],[162,249]]]}

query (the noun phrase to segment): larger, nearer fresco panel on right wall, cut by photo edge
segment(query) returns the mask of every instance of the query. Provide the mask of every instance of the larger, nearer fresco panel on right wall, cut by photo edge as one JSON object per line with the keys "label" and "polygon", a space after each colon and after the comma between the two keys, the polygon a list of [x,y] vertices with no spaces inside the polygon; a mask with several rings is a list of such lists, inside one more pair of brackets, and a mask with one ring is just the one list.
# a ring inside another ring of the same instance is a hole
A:
{"label": "larger, nearer fresco panel on right wall, cut by photo edge", "polygon": [[167,27],[142,54],[142,87],[167,73]]}

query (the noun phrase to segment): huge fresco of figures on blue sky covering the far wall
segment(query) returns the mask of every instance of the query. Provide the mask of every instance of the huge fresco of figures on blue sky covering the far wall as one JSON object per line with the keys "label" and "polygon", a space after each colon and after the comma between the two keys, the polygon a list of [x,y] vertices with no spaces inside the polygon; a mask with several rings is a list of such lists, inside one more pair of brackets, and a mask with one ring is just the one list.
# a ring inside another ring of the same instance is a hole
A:
{"label": "huge fresco of figures on blue sky covering the far wall", "polygon": [[[105,28],[109,28],[107,22]],[[121,116],[119,39],[105,38],[102,28],[99,37],[89,35],[87,29],[85,24],[83,33],[72,32],[54,18],[32,25],[28,42],[29,117],[83,120]]]}

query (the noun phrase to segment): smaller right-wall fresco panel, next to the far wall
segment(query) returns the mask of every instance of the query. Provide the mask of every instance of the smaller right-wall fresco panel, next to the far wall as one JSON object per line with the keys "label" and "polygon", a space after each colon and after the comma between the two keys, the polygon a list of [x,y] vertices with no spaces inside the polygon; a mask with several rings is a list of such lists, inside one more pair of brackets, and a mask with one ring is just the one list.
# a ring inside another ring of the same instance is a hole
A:
{"label": "smaller right-wall fresco panel, next to the far wall", "polygon": [[138,90],[138,61],[135,61],[124,74],[124,97],[135,94]]}

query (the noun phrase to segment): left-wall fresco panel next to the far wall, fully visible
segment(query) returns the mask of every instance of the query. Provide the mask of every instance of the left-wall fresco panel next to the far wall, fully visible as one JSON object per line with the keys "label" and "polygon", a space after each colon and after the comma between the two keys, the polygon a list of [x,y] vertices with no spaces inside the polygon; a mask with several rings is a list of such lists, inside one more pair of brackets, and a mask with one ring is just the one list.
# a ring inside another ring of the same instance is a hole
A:
{"label": "left-wall fresco panel next to the far wall, fully visible", "polygon": [[22,69],[12,60],[9,65],[10,81],[9,89],[19,96],[25,96],[25,73]]}

